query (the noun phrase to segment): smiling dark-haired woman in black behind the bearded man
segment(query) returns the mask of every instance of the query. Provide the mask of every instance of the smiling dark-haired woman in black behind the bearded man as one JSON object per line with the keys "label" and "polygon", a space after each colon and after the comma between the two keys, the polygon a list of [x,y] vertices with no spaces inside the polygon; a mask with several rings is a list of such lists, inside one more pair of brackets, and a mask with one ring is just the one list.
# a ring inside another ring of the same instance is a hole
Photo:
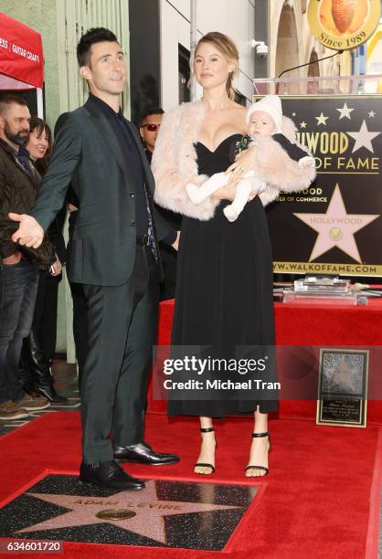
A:
{"label": "smiling dark-haired woman in black behind the bearded man", "polygon": [[[38,117],[30,119],[26,147],[31,162],[43,176],[48,169],[52,148],[52,133],[46,121]],[[56,349],[58,282],[65,262],[65,242],[61,228],[58,217],[48,228],[48,238],[55,249],[56,262],[49,272],[39,272],[32,329],[24,340],[20,362],[20,379],[24,389],[29,394],[45,396],[56,404],[67,401],[64,396],[58,396],[50,368]]]}

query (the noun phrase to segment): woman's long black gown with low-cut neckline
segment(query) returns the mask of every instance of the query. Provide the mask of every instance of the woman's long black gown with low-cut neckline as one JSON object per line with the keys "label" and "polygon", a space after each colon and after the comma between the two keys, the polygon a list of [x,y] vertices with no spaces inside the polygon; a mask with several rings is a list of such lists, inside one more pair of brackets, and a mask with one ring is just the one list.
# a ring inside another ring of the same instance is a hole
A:
{"label": "woman's long black gown with low-cut neckline", "polygon": [[[199,174],[225,171],[231,164],[232,142],[240,137],[240,134],[228,137],[215,152],[197,142]],[[221,202],[209,221],[183,218],[172,345],[209,345],[212,353],[207,351],[208,355],[233,358],[236,346],[274,343],[272,260],[267,219],[260,198],[249,202],[233,223],[222,211],[228,204],[228,201]],[[187,378],[191,376],[205,377],[188,374]],[[238,376],[235,380],[246,380]],[[268,372],[268,378],[265,372],[260,378],[276,380],[274,368]],[[250,398],[239,400],[229,400],[223,392],[218,399],[207,401],[171,396],[170,416],[224,417],[251,412],[258,404],[263,413],[277,409],[276,399],[257,399],[259,394],[253,390]]]}

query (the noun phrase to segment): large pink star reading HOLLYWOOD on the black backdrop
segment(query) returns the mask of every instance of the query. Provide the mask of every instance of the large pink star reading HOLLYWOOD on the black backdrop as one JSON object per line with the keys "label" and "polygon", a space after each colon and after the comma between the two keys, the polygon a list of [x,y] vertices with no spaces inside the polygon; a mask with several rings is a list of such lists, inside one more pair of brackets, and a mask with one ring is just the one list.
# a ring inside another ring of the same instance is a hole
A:
{"label": "large pink star reading HOLLYWOOD on the black backdrop", "polygon": [[294,214],[317,231],[309,261],[315,260],[331,248],[338,247],[349,257],[361,262],[354,234],[377,219],[379,214],[347,214],[339,185],[335,185],[333,196],[325,214]]}

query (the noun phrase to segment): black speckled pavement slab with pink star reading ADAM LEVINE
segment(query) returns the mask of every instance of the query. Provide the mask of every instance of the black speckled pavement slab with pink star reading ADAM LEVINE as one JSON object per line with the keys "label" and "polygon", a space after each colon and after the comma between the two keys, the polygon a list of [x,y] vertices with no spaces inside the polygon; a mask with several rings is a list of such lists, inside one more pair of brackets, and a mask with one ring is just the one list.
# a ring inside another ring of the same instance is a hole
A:
{"label": "black speckled pavement slab with pink star reading ADAM LEVINE", "polygon": [[147,480],[115,492],[48,475],[0,510],[0,536],[221,550],[258,490]]}

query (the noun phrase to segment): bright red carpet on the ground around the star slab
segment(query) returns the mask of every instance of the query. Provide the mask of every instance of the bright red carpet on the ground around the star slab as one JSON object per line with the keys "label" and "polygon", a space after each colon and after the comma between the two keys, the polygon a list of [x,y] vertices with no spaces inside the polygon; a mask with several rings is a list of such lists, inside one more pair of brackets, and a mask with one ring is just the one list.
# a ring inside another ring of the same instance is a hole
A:
{"label": "bright red carpet on the ground around the star slab", "polygon": [[[217,472],[208,481],[245,482],[251,421],[217,422]],[[271,473],[225,552],[65,543],[65,557],[235,559],[360,559],[366,555],[377,427],[321,427],[311,421],[271,421]],[[148,441],[181,456],[163,469],[129,465],[133,475],[201,481],[192,473],[197,420],[148,415]],[[0,439],[2,504],[45,469],[75,473],[80,464],[80,415],[48,413]],[[202,479],[204,480],[204,478]],[[379,478],[380,481],[380,478]],[[376,516],[373,517],[374,519]],[[371,522],[369,534],[375,533]],[[369,544],[370,547],[370,544]],[[27,554],[27,557],[41,555]],[[61,555],[62,556],[62,555]]]}

